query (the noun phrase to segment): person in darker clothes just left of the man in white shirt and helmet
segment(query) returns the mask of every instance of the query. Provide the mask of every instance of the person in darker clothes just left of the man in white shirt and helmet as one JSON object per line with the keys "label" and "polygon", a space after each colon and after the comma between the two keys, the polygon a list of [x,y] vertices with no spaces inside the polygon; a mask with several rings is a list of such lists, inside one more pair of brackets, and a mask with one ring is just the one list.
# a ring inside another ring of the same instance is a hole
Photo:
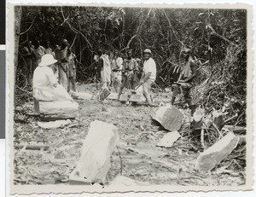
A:
{"label": "person in darker clothes just left of the man in white shirt and helmet", "polygon": [[122,76],[122,84],[119,90],[119,97],[121,96],[124,88],[134,90],[137,86],[138,82],[136,80],[138,72],[137,61],[132,58],[131,49],[127,51],[127,58],[124,60],[123,64],[123,76]]}

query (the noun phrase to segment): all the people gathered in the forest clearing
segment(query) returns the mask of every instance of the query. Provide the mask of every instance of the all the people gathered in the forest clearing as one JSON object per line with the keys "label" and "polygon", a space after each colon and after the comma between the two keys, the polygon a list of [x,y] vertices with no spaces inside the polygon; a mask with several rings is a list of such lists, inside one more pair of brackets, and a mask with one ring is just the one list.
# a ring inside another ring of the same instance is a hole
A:
{"label": "all the people gathered in the forest clearing", "polygon": [[[39,113],[38,101],[61,101],[70,100],[72,97],[70,92],[70,84],[72,90],[76,91],[76,56],[69,47],[67,39],[63,39],[60,45],[55,45],[55,49],[49,47],[47,42],[45,48],[36,42],[33,46],[29,43],[26,60],[31,59],[33,71],[33,97],[34,97],[34,113]],[[196,67],[194,61],[190,57],[190,49],[184,48],[183,70],[176,83],[172,84],[172,101],[174,101],[181,90],[185,101],[188,103],[191,113],[195,111],[195,104],[190,95],[190,89],[193,86],[193,79],[196,77]],[[119,55],[119,51],[113,52],[110,58],[106,50],[97,50],[94,60],[96,61],[96,69],[101,74],[102,89],[113,89],[120,97],[124,88],[136,90],[143,87],[143,96],[149,106],[154,106],[151,96],[151,86],[156,79],[156,64],[152,58],[152,51],[145,49],[143,51],[143,62],[140,59],[132,57],[132,50],[126,52],[123,58]],[[143,66],[142,72],[140,67]],[[138,79],[140,78],[140,79]]]}

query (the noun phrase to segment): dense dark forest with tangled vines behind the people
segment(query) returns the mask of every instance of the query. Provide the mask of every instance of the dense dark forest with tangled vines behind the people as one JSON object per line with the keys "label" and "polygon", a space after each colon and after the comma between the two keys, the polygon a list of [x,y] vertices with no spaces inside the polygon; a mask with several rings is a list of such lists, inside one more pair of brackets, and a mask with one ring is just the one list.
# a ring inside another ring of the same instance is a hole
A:
{"label": "dense dark forest with tangled vines behind the people", "polygon": [[225,108],[234,125],[246,124],[247,10],[109,7],[15,7],[15,101],[32,96],[21,49],[28,41],[55,44],[67,38],[78,57],[77,80],[94,83],[97,49],[132,49],[136,58],[151,49],[157,64],[154,91],[170,88],[189,47],[198,77],[192,93],[209,110]]}

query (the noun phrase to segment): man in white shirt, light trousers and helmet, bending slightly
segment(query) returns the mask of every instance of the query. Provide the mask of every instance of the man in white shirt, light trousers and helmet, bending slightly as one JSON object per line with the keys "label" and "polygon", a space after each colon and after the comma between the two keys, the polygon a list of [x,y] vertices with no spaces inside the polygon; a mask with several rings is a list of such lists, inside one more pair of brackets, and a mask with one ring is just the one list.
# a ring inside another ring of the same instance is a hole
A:
{"label": "man in white shirt, light trousers and helmet, bending slightly", "polygon": [[150,49],[144,50],[143,56],[145,61],[143,63],[143,75],[140,80],[140,84],[143,85],[143,95],[146,97],[148,104],[150,106],[154,106],[150,95],[150,89],[156,78],[156,65],[154,60],[151,58],[151,55],[152,52]]}

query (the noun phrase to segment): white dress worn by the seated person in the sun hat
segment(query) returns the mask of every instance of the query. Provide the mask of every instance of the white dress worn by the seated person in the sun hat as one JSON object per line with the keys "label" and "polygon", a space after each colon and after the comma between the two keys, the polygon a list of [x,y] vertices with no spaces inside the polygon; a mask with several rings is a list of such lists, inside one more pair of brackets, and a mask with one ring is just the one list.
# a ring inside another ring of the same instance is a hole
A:
{"label": "white dress worn by the seated person in the sun hat", "polygon": [[[57,87],[54,87],[57,84]],[[37,67],[33,74],[33,97],[38,101],[72,101],[67,90],[57,82],[50,67]]]}

